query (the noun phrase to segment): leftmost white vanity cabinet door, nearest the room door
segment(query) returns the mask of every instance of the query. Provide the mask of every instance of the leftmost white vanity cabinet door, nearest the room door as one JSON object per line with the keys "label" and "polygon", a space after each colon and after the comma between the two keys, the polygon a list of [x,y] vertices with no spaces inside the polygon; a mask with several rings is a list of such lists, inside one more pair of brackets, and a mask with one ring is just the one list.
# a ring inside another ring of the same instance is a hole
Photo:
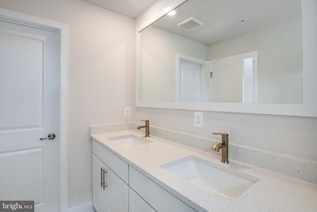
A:
{"label": "leftmost white vanity cabinet door, nearest the room door", "polygon": [[93,154],[93,205],[96,212],[108,212],[106,208],[107,191],[104,190],[103,169],[106,165]]}

